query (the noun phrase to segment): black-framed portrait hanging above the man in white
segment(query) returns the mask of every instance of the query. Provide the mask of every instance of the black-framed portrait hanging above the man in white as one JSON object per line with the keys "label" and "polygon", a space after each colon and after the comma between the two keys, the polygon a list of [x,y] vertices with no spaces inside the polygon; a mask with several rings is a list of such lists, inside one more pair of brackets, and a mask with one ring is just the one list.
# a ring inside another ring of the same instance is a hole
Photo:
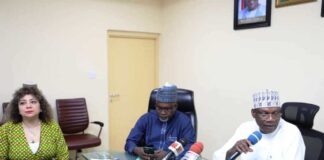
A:
{"label": "black-framed portrait hanging above the man in white", "polygon": [[271,23],[271,0],[234,0],[234,29],[267,27]]}

